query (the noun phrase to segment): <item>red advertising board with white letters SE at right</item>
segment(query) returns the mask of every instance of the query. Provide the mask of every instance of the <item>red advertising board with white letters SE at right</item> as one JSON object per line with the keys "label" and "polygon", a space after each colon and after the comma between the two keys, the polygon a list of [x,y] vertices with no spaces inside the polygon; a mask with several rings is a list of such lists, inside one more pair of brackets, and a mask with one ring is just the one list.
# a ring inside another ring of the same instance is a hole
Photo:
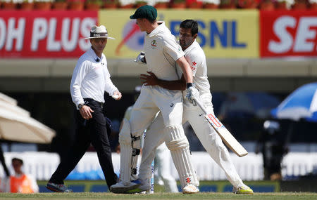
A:
{"label": "red advertising board with white letters SE at right", "polygon": [[317,11],[260,11],[261,57],[317,56]]}

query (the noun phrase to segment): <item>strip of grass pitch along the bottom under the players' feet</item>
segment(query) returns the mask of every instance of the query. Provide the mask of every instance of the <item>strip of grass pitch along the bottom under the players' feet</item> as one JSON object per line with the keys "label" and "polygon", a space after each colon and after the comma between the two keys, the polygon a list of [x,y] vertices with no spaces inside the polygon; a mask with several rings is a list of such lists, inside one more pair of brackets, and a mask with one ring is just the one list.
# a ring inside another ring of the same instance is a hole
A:
{"label": "strip of grass pitch along the bottom under the players' feet", "polygon": [[172,194],[172,193],[156,193],[156,194],[112,194],[108,192],[81,192],[81,193],[37,193],[37,194],[11,194],[0,193],[0,199],[317,199],[317,193],[255,193],[250,194],[232,194],[232,193],[216,193],[202,192],[199,194]]}

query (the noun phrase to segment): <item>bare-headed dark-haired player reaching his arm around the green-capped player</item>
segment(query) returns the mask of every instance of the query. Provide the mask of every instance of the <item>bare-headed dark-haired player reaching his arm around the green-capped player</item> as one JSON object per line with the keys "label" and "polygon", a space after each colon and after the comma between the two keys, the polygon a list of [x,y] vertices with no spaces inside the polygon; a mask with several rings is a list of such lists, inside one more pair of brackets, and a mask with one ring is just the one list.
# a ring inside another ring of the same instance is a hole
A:
{"label": "bare-headed dark-haired player reaching his arm around the green-capped player", "polygon": [[[201,104],[213,114],[213,104],[211,102],[210,85],[207,77],[206,56],[204,51],[196,41],[198,35],[198,24],[195,20],[185,20],[180,24],[180,46],[186,53],[185,58],[192,68],[194,86],[198,89],[198,93],[194,93],[194,99],[199,100]],[[147,58],[147,53],[145,53]],[[181,73],[180,70],[178,72]],[[159,79],[153,72],[149,74],[141,74],[145,86],[161,86],[170,90],[185,90],[186,84],[184,76],[180,81],[166,81]],[[253,190],[245,185],[232,164],[228,149],[223,144],[220,136],[213,129],[211,124],[204,118],[204,113],[198,106],[194,106],[191,100],[184,98],[184,113],[182,114],[182,122],[186,121],[191,124],[194,132],[201,141],[211,158],[225,171],[225,175],[233,185],[233,191],[236,194],[253,194]],[[139,180],[151,177],[150,164],[154,159],[156,147],[164,142],[163,134],[159,134],[160,128],[163,126],[163,118],[161,114],[154,120],[147,131],[147,137],[144,140],[142,162],[139,168]],[[147,189],[144,185],[138,187],[141,191]]]}

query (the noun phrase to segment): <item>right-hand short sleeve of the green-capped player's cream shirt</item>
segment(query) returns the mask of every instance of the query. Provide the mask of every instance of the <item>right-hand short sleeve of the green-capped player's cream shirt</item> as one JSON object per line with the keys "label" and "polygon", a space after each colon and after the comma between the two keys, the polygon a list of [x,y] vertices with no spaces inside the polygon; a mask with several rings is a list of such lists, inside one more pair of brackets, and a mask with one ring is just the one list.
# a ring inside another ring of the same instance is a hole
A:
{"label": "right-hand short sleeve of the green-capped player's cream shirt", "polygon": [[185,55],[182,48],[177,43],[175,36],[166,37],[163,39],[163,49],[175,61]]}

